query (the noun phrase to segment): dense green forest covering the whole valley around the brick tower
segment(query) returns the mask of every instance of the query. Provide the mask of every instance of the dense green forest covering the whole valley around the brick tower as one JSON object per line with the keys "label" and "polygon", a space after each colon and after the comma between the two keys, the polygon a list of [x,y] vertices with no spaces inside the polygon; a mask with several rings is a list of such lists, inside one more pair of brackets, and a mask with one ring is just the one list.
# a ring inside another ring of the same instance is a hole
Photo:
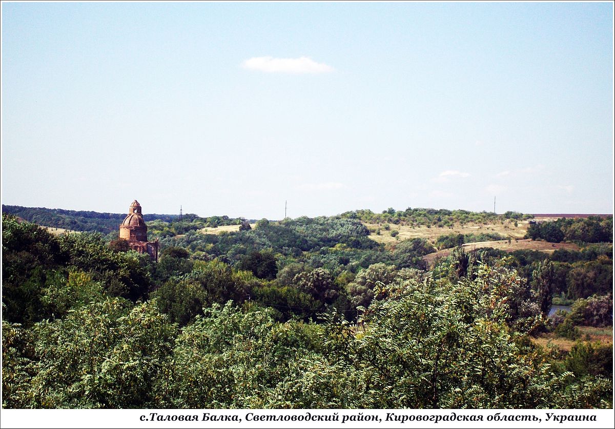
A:
{"label": "dense green forest covering the whole valley around the brick tower", "polygon": [[[583,331],[612,332],[612,218],[554,222],[579,250],[550,254],[448,235],[433,267],[426,239],[384,246],[364,225],[530,218],[494,216],[158,217],[154,263],[121,245],[121,219],[53,235],[3,213],[2,406],[612,407],[612,345]],[[200,231],[223,225],[241,227]],[[546,334],[574,345],[542,347]]]}

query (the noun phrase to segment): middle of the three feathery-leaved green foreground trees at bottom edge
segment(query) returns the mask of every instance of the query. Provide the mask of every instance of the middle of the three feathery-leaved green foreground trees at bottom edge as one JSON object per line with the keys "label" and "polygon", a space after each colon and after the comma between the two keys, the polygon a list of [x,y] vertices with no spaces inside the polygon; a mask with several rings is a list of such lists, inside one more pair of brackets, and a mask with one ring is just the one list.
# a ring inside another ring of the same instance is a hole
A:
{"label": "middle of the three feathery-leaved green foreground trees at bottom edge", "polygon": [[[278,324],[271,309],[242,313],[230,303],[213,305],[178,337],[172,374],[157,389],[160,402],[173,408],[281,407],[279,383],[290,377],[294,361],[318,347],[321,333],[314,325]],[[293,406],[293,398],[284,401]]]}

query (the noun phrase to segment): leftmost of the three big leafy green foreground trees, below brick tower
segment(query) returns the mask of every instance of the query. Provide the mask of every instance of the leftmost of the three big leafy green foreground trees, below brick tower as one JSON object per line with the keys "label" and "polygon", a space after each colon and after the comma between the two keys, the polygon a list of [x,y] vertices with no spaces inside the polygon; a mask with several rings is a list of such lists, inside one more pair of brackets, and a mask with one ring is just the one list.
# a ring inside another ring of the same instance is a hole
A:
{"label": "leftmost of the three big leafy green foreground trees, below brick tower", "polygon": [[177,327],[153,305],[91,303],[34,329],[36,359],[25,407],[149,407]]}

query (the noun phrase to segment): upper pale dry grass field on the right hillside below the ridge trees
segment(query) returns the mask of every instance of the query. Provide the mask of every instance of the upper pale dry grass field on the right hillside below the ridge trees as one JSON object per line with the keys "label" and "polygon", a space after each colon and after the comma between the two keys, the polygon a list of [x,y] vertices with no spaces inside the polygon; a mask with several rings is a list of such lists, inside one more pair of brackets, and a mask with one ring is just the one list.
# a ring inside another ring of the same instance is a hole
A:
{"label": "upper pale dry grass field on the right hillside below the ridge trees", "polygon": [[[518,220],[515,227],[515,221],[507,219],[502,223],[491,223],[482,225],[477,223],[467,223],[466,225],[456,224],[450,227],[410,227],[408,225],[389,224],[390,230],[385,230],[383,225],[377,223],[365,223],[365,226],[371,231],[370,238],[378,243],[395,243],[399,240],[407,240],[409,238],[424,238],[431,244],[441,235],[447,234],[469,234],[469,233],[498,233],[505,237],[520,239],[525,237],[528,230],[527,220]],[[376,231],[380,230],[380,235]],[[391,236],[391,231],[399,231],[397,237]]]}

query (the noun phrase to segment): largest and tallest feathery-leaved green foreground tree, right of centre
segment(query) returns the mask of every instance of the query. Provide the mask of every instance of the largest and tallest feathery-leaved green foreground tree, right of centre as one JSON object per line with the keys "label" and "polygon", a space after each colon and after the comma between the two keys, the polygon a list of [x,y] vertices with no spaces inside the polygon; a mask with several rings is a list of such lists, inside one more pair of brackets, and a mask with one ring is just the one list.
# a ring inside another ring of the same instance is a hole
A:
{"label": "largest and tallest feathery-leaved green foreground tree, right of centre", "polygon": [[[391,299],[374,301],[365,315],[370,329],[354,355],[374,392],[365,407],[581,404],[571,374],[555,375],[544,358],[525,355],[518,346],[523,332],[507,328],[504,298],[517,284],[514,271],[483,265],[474,281],[408,281]],[[381,360],[371,366],[373,353]],[[592,388],[606,398],[600,383]]]}

